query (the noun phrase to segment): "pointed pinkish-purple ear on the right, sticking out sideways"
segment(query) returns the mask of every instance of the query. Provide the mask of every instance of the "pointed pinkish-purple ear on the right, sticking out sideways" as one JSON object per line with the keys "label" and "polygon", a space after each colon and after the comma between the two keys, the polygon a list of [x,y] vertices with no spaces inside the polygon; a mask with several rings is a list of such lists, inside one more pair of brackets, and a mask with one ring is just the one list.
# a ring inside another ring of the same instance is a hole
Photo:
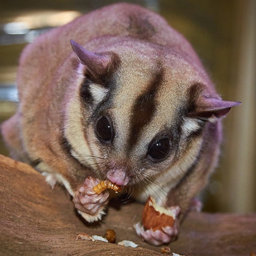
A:
{"label": "pointed pinkish-purple ear on the right, sticking out sideways", "polygon": [[202,119],[209,119],[212,117],[223,117],[233,106],[240,105],[239,101],[225,101],[217,98],[209,98],[206,96],[201,96],[197,99],[197,103],[194,109],[191,110],[187,116],[198,117]]}

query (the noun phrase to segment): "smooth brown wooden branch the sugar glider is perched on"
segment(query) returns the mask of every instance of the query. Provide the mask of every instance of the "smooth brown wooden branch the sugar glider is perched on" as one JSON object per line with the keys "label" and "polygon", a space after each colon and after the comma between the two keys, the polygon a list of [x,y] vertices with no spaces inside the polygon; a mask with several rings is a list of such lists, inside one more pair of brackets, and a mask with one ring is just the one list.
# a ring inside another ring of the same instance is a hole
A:
{"label": "smooth brown wooden branch the sugar glider is perched on", "polygon": [[[27,164],[0,155],[0,252],[3,255],[160,255],[160,247],[141,241],[133,230],[143,205],[110,206],[99,224],[86,224],[65,190],[55,189]],[[75,241],[77,234],[131,240],[138,248]],[[256,215],[193,213],[183,223],[172,252],[185,255],[249,255],[256,251]]]}

